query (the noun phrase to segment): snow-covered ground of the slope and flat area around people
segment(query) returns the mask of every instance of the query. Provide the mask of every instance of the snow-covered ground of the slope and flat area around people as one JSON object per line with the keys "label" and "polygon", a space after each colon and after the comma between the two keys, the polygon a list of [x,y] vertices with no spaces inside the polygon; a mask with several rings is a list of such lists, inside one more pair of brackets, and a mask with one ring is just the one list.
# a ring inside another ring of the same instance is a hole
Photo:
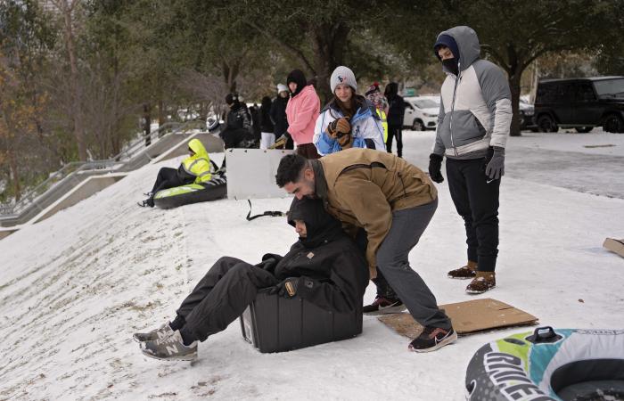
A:
{"label": "snow-covered ground of the slope and flat area around people", "polygon": [[[432,132],[405,132],[407,160],[426,169]],[[587,148],[585,145],[613,144]],[[221,155],[214,155],[219,159]],[[283,218],[245,220],[246,201],[141,209],[160,167],[146,166],[78,205],[0,241],[0,399],[409,399],[464,397],[465,368],[508,329],[430,354],[365,316],[353,340],[260,354],[234,322],[194,363],[145,358],[131,339],[172,317],[223,255],[255,262],[296,235]],[[495,298],[564,328],[624,328],[624,135],[510,138],[501,187]],[[252,201],[254,212],[290,200]],[[465,261],[464,226],[439,185],[439,209],[410,255],[439,303],[474,297],[446,272]],[[365,302],[374,298],[369,286]]]}

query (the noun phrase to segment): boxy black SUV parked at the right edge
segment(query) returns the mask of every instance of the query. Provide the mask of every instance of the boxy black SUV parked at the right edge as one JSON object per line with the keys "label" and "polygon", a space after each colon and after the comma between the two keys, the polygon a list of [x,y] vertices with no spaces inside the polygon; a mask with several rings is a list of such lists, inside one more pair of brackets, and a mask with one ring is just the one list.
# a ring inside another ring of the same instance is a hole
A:
{"label": "boxy black SUV parked at the right edge", "polygon": [[535,122],[542,132],[559,127],[624,133],[624,77],[545,79],[538,84]]}

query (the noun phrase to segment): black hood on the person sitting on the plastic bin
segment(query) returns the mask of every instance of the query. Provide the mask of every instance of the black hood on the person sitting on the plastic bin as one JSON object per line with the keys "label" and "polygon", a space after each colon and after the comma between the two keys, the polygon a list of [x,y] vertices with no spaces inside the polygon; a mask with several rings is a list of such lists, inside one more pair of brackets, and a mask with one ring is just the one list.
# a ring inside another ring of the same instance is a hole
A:
{"label": "black hood on the person sitting on the plastic bin", "polygon": [[341,222],[325,211],[321,200],[294,198],[288,212],[288,224],[294,226],[295,220],[306,223],[306,238],[300,237],[299,241],[308,249],[333,241],[344,234]]}

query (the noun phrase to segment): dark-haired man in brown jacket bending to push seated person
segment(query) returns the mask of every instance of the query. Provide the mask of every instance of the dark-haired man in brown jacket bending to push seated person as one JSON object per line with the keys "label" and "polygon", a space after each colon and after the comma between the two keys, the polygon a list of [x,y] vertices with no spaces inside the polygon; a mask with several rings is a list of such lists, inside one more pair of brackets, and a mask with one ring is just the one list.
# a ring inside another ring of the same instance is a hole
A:
{"label": "dark-haired man in brown jacket bending to push seated person", "polygon": [[457,338],[423,279],[409,266],[412,250],[438,207],[438,192],[423,171],[390,153],[347,149],[319,160],[287,155],[277,185],[301,199],[320,198],[349,233],[365,229],[370,277],[380,269],[416,322],[425,328],[409,346],[433,351]]}

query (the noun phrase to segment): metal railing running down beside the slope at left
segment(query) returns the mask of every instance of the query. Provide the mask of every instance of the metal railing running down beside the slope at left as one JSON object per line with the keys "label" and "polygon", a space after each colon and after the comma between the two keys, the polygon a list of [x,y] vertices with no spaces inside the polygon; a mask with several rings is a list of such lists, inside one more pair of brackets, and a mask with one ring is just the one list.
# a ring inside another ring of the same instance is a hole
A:
{"label": "metal railing running down beside the slope at left", "polygon": [[[53,190],[56,184],[61,183],[64,180],[68,180],[70,176],[79,175],[86,171],[100,170],[99,173],[116,171],[122,168],[130,160],[135,157],[143,156],[144,152],[152,147],[154,144],[160,142],[160,138],[165,135],[183,134],[185,131],[191,129],[197,129],[197,126],[201,126],[201,123],[205,122],[201,120],[191,120],[185,123],[168,122],[161,125],[158,129],[152,131],[150,134],[150,145],[145,146],[146,136],[141,136],[135,141],[129,143],[124,150],[119,154],[107,160],[92,160],[92,161],[71,161],[66,163],[61,169],[55,171],[44,182],[37,184],[36,187],[29,190],[21,196],[20,201],[13,204],[0,204],[0,217],[9,218],[19,215],[24,209],[27,209],[30,205],[35,204],[37,206],[37,200],[45,194],[45,192]],[[149,160],[152,158],[147,156]],[[78,181],[79,182],[79,181]],[[77,184],[78,184],[77,182]],[[41,209],[41,208],[39,208]]]}

